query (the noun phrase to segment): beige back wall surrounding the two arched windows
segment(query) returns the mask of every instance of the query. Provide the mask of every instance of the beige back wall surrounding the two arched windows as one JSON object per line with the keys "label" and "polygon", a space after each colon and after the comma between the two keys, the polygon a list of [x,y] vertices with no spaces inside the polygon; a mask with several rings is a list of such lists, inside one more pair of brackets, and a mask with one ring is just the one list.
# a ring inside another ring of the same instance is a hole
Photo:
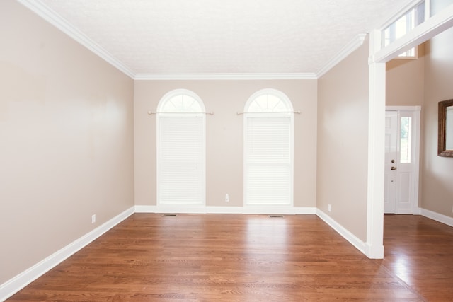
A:
{"label": "beige back wall surrounding the two arched windows", "polygon": [[206,117],[208,207],[243,206],[243,116],[236,112],[263,88],[282,91],[302,111],[294,115],[294,206],[316,207],[316,80],[135,81],[135,204],[156,204],[156,116],[147,112],[177,88],[197,93],[214,112]]}

